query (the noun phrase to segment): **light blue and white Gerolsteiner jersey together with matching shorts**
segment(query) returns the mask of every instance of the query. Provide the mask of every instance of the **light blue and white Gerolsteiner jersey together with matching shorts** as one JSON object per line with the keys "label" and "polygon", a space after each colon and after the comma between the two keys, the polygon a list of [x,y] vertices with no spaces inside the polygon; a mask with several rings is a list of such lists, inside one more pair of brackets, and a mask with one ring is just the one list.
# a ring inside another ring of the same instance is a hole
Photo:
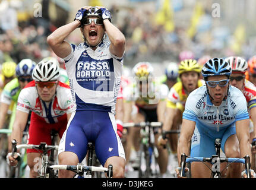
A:
{"label": "light blue and white Gerolsteiner jersey together with matching shorts", "polygon": [[236,134],[235,122],[248,119],[245,96],[233,86],[220,106],[214,106],[208,96],[206,85],[192,91],[187,99],[183,118],[196,122],[192,136],[191,156],[216,154],[214,140],[222,139],[222,150],[230,135]]}

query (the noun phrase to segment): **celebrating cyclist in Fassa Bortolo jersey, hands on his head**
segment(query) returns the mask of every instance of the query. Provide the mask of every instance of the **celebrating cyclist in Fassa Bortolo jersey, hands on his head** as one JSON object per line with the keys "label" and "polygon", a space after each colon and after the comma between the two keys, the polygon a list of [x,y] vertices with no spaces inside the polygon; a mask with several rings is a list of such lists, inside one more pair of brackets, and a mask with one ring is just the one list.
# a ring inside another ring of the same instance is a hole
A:
{"label": "celebrating cyclist in Fassa Bortolo jersey, hands on his head", "polygon": [[[76,46],[65,38],[80,27],[84,43]],[[125,37],[111,23],[104,7],[83,7],[72,23],[59,27],[48,43],[65,60],[76,110],[59,144],[59,164],[82,162],[87,143],[95,145],[102,166],[113,165],[113,178],[124,178],[125,153],[116,132],[115,104],[121,81]],[[72,178],[62,170],[59,178]]]}

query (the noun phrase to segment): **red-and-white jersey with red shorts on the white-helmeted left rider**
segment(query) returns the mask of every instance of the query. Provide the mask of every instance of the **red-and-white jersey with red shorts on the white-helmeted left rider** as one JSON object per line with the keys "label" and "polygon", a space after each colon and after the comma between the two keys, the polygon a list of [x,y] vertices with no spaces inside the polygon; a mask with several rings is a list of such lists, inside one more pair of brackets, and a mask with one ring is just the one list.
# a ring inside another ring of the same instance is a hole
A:
{"label": "red-and-white jersey with red shorts on the white-helmeted left rider", "polygon": [[[32,111],[29,144],[51,144],[50,131],[55,129],[62,137],[68,124],[67,113],[73,112],[75,105],[67,84],[58,81],[52,101],[44,102],[38,96],[35,82],[31,81],[18,96],[17,110],[26,113]],[[38,153],[38,150],[27,149],[27,153]]]}

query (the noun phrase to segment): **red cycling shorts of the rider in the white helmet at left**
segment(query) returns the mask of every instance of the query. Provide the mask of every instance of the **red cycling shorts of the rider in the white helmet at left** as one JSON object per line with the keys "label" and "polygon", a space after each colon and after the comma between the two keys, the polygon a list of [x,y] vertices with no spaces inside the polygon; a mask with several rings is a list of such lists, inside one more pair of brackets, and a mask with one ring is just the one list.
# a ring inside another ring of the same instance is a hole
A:
{"label": "red cycling shorts of the rider in the white helmet at left", "polygon": [[[67,128],[67,114],[60,116],[58,121],[59,122],[56,124],[48,124],[45,122],[45,119],[32,112],[29,126],[29,144],[46,143],[51,145],[50,131],[52,129],[57,131],[61,138]],[[39,150],[27,149],[27,153],[39,153]],[[42,153],[42,151],[40,151],[40,153]]]}

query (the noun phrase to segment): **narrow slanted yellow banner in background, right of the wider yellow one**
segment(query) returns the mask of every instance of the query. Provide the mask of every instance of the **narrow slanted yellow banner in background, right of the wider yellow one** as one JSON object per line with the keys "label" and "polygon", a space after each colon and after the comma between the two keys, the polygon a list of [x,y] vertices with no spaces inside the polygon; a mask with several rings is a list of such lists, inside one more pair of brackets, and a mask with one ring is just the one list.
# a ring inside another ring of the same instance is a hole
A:
{"label": "narrow slanted yellow banner in background, right of the wider yellow one", "polygon": [[200,17],[204,14],[205,12],[203,5],[201,4],[201,2],[197,2],[195,4],[194,12],[191,18],[191,26],[187,30],[187,34],[189,37],[192,38],[195,36],[195,33],[197,33],[197,26],[200,21]]}

